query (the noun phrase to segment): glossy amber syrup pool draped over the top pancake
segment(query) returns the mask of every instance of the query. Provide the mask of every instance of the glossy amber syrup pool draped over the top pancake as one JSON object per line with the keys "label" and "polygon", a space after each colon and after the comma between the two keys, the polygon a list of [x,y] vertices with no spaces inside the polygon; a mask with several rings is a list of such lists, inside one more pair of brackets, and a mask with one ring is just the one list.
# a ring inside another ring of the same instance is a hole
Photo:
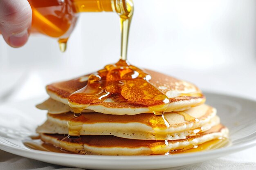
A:
{"label": "glossy amber syrup pool draped over the top pancake", "polygon": [[150,79],[143,70],[119,60],[90,75],[87,85],[70,95],[69,105],[80,114],[90,104],[119,95],[124,101],[147,106],[155,115],[162,115],[169,98],[150,84]]}

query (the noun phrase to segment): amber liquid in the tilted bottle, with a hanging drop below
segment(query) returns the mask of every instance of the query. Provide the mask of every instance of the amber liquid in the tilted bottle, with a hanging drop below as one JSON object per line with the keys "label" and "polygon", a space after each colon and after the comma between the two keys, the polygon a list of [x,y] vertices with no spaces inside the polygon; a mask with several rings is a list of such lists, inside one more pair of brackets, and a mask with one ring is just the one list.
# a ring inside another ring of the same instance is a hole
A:
{"label": "amber liquid in the tilted bottle, with a hanging drop below", "polygon": [[32,9],[31,33],[57,38],[64,52],[79,12],[115,11],[112,0],[28,0]]}

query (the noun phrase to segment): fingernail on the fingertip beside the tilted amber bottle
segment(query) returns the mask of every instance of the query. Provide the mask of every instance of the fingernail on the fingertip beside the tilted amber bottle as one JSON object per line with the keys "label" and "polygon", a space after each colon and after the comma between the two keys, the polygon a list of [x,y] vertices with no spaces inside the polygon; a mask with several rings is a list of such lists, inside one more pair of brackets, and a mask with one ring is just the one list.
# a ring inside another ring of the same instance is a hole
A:
{"label": "fingernail on the fingertip beside the tilted amber bottle", "polygon": [[13,33],[10,37],[9,37],[9,44],[12,47],[20,47],[23,46],[28,39],[28,32],[27,30],[21,32],[21,33]]}

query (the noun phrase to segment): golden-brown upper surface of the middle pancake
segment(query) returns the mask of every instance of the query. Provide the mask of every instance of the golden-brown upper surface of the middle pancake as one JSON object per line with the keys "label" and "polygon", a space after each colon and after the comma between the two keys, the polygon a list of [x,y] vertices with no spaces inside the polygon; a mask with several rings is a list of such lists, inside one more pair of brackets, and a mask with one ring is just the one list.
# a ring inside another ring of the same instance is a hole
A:
{"label": "golden-brown upper surface of the middle pancake", "polygon": [[[169,112],[164,113],[165,119],[169,122],[170,127],[183,126],[184,124],[195,123],[200,119],[207,118],[214,113],[215,109],[208,105],[201,105],[193,107],[189,110],[184,110],[182,113],[185,113],[192,117],[191,120],[186,121],[183,115],[180,115],[181,112]],[[60,119],[64,121],[70,120],[74,117],[74,113],[67,112],[64,114],[49,114],[50,117],[55,119]],[[146,124],[152,128],[166,128],[164,125],[164,119],[161,116],[141,113],[137,115],[108,115],[102,113],[82,113],[83,119],[74,119],[73,121],[82,122],[86,124],[95,124],[95,123],[131,123],[137,122],[141,124]]]}

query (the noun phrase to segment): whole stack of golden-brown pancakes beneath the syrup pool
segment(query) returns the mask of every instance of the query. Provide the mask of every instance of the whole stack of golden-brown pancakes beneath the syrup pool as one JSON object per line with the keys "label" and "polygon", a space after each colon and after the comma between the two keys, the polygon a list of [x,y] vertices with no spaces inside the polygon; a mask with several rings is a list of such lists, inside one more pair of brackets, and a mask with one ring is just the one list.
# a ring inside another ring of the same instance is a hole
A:
{"label": "whole stack of golden-brown pancakes beneath the syrup pool", "polygon": [[[83,119],[72,119],[69,96],[88,82],[85,75],[46,87],[50,98],[37,108],[48,110],[47,120],[36,131],[48,144],[70,152],[91,155],[158,155],[189,150],[208,141],[226,138],[228,129],[220,124],[216,109],[204,104],[201,91],[182,80],[147,70],[150,83],[169,97],[162,116],[135,104],[119,94],[90,104]],[[79,129],[79,140],[67,137],[68,121]],[[216,143],[214,143],[216,144]]]}

